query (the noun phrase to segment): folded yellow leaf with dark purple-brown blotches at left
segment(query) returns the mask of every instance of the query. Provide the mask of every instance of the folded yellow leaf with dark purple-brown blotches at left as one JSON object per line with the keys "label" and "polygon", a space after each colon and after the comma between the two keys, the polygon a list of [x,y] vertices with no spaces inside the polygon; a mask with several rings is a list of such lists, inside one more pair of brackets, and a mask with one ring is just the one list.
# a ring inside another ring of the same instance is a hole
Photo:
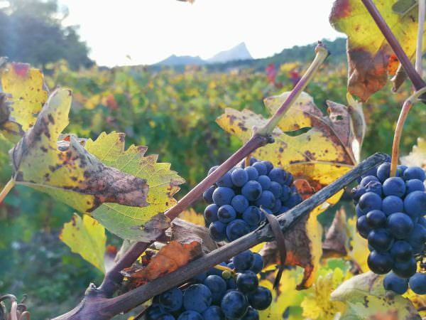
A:
{"label": "folded yellow leaf with dark purple-brown blotches at left", "polygon": [[104,202],[146,206],[146,180],[105,166],[73,136],[58,142],[70,105],[70,90],[53,92],[34,126],[11,150],[16,183],[48,193],[80,212]]}

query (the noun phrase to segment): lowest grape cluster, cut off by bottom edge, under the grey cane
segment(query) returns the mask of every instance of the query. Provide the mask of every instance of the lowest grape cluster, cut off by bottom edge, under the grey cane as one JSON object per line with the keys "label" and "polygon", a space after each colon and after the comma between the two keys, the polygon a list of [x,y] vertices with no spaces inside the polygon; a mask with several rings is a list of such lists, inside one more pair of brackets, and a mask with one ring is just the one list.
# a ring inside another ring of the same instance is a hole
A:
{"label": "lowest grape cluster, cut off by bottom edge, under the grey cane", "polygon": [[155,296],[145,319],[258,320],[258,310],[272,302],[271,291],[258,285],[261,255],[247,250],[221,265],[233,271],[212,268],[198,274],[189,287],[175,287]]}

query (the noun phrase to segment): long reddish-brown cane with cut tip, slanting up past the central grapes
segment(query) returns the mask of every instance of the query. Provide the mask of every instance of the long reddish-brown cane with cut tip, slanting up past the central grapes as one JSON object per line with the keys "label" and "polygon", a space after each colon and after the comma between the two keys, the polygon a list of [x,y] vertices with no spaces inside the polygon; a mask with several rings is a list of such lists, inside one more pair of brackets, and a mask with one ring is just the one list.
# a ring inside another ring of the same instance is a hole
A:
{"label": "long reddish-brown cane with cut tip, slanting up past the central grapes", "polygon": [[[239,161],[249,156],[253,151],[264,146],[268,143],[273,142],[273,138],[271,137],[271,133],[274,127],[278,124],[279,119],[283,117],[285,112],[293,105],[296,98],[300,95],[300,92],[307,86],[307,84],[312,80],[313,76],[317,72],[320,65],[324,62],[325,58],[329,55],[327,48],[320,41],[318,42],[317,47],[315,48],[315,58],[312,61],[310,67],[307,69],[305,75],[297,82],[293,90],[290,92],[288,98],[283,102],[278,110],[273,114],[271,119],[274,119],[273,122],[268,122],[266,127],[263,127],[260,131],[253,130],[253,136],[249,139],[244,146],[232,154],[229,159],[224,161],[223,164],[219,166],[216,170],[209,174],[204,178],[200,183],[195,186],[189,193],[187,193],[180,201],[167,210],[165,215],[170,218],[170,220],[175,219],[180,215],[180,213],[185,210],[188,206],[191,205],[194,201],[196,201],[202,193],[212,186],[219,178],[221,178],[226,172],[228,172],[231,168],[236,166]],[[114,267],[105,274],[104,281],[99,287],[99,291],[103,292],[104,297],[111,297],[116,289],[118,289],[119,284],[121,283],[123,276],[120,271],[125,267],[130,267],[133,262],[146,250],[146,248],[150,245],[149,242],[137,242],[133,245],[128,252],[126,252],[123,257],[114,265]]]}

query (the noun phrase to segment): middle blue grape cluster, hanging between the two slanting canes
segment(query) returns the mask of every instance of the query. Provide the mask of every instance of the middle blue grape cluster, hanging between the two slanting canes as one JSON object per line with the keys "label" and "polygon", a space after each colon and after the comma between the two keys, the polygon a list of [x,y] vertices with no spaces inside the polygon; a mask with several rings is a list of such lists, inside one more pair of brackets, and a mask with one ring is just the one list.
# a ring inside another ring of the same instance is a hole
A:
{"label": "middle blue grape cluster, hanging between the two slanting canes", "polygon": [[[217,166],[209,170],[211,174]],[[229,242],[255,230],[265,219],[260,206],[279,214],[302,201],[293,176],[270,161],[251,157],[250,166],[235,167],[203,193],[209,203],[204,219],[215,241]]]}

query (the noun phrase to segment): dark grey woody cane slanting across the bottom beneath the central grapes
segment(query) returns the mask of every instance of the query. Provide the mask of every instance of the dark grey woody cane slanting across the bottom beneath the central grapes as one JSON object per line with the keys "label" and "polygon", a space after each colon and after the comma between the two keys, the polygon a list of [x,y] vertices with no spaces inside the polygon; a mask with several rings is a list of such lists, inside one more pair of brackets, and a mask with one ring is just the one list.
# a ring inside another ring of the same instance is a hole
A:
{"label": "dark grey woody cane slanting across the bottom beneath the central grapes", "polygon": [[[368,159],[362,161],[358,166],[354,167],[354,169],[347,172],[333,183],[322,188],[322,190],[315,193],[312,197],[287,212],[278,215],[277,218],[280,230],[283,233],[293,230],[300,219],[309,214],[315,207],[320,205],[320,203],[324,203],[329,197],[342,190],[345,186],[348,186],[349,183],[355,181],[359,176],[376,168],[376,166],[382,164],[385,160],[385,154],[374,154],[368,157]],[[248,250],[258,243],[271,240],[274,240],[274,233],[271,229],[271,225],[263,224],[248,235],[244,235],[217,250],[209,252],[207,255],[203,255],[199,259],[180,267],[175,272],[165,274],[163,277],[159,277],[141,287],[121,294],[118,297],[102,297],[102,293],[99,292],[99,289],[91,285],[86,290],[84,300],[76,306],[75,309],[53,320],[111,319],[112,316],[129,311],[143,304],[143,302],[148,301],[155,295],[187,282],[188,279],[195,277],[197,274],[219,265],[220,262],[229,260],[231,257],[238,255],[244,250]]]}

